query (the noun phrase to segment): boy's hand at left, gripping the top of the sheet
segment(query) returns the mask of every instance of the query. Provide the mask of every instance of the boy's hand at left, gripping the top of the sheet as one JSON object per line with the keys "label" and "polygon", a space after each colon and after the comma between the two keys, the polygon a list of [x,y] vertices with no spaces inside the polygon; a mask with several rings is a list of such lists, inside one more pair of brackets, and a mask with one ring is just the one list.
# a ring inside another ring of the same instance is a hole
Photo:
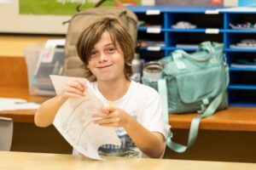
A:
{"label": "boy's hand at left, gripping the top of the sheet", "polygon": [[61,100],[67,100],[68,98],[80,98],[85,95],[85,82],[80,78],[73,78],[67,82],[59,94]]}

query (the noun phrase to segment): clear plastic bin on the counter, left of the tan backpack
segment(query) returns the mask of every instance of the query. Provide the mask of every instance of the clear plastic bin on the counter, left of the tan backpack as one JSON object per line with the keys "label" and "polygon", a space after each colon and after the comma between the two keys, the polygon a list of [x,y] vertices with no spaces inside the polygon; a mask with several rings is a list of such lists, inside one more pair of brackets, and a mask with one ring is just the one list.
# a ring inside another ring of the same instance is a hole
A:
{"label": "clear plastic bin on the counter, left of the tan backpack", "polygon": [[49,75],[62,75],[64,49],[44,49],[40,45],[23,48],[26,59],[29,94],[55,95],[55,89]]}

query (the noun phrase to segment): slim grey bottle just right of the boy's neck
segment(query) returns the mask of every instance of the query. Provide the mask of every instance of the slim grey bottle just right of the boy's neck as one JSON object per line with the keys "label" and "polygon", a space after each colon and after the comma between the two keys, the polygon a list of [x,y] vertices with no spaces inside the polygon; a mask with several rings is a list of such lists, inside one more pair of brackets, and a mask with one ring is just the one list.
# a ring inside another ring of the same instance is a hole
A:
{"label": "slim grey bottle just right of the boy's neck", "polygon": [[131,76],[131,80],[135,82],[141,82],[142,79],[142,71],[143,71],[143,62],[140,59],[139,54],[134,55],[134,59],[131,61],[133,75]]}

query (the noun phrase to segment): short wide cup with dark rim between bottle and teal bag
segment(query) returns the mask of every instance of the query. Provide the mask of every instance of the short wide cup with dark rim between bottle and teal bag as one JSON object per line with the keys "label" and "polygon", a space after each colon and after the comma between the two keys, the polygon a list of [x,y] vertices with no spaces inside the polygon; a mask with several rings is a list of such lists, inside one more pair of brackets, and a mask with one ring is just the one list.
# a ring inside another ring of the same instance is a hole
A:
{"label": "short wide cup with dark rim between bottle and teal bag", "polygon": [[163,65],[158,61],[150,61],[143,67],[143,77],[151,81],[158,81],[162,77]]}

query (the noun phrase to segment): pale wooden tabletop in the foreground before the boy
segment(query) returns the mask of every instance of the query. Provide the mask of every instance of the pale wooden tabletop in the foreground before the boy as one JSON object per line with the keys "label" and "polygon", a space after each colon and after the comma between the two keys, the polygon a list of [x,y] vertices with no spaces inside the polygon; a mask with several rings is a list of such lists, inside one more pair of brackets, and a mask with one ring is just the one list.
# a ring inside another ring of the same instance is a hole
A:
{"label": "pale wooden tabletop in the foreground before the boy", "polygon": [[225,161],[183,161],[167,159],[127,159],[108,158],[105,161],[94,161],[84,156],[72,156],[61,154],[43,154],[29,152],[5,152],[0,151],[0,169],[93,169],[93,170],[115,170],[115,169],[177,169],[177,170],[254,170],[256,164],[225,162]]}

